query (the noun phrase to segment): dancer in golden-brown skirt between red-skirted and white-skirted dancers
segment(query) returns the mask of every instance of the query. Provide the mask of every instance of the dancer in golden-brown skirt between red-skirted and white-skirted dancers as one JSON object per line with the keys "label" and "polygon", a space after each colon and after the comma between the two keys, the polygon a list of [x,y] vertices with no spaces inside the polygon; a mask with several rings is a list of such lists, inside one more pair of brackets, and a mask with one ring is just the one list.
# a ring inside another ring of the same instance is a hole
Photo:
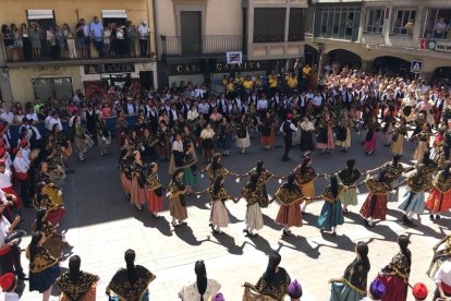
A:
{"label": "dancer in golden-brown skirt between red-skirted and white-skirted dancers", "polygon": [[169,183],[169,212],[172,216],[172,226],[185,225],[187,218],[185,194],[187,188],[183,184],[183,169],[178,168]]}

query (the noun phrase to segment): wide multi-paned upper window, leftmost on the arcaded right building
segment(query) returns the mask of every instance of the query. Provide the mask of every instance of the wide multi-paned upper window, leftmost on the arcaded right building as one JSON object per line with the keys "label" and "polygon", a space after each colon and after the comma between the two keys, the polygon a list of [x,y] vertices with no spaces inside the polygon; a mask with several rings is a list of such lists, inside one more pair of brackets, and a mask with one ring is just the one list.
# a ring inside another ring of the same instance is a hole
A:
{"label": "wide multi-paned upper window, leftmost on the arcaded right building", "polygon": [[358,7],[320,7],[315,14],[315,36],[357,40],[361,14]]}

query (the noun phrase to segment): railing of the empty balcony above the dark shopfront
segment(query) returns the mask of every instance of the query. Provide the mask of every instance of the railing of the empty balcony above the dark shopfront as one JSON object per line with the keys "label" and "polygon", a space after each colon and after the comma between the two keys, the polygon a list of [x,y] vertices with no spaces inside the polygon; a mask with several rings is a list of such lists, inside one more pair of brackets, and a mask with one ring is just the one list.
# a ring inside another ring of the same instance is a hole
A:
{"label": "railing of the empty balcony above the dark shopfront", "polygon": [[202,56],[206,53],[223,53],[244,51],[243,36],[160,36],[162,53],[168,57]]}

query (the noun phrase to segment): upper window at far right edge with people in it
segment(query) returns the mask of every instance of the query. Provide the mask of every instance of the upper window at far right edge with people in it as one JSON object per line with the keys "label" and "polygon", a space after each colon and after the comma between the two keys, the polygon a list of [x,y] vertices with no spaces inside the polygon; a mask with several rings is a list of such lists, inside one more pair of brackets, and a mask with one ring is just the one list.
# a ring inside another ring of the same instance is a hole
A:
{"label": "upper window at far right edge with people in it", "polygon": [[427,10],[423,37],[451,39],[451,10]]}

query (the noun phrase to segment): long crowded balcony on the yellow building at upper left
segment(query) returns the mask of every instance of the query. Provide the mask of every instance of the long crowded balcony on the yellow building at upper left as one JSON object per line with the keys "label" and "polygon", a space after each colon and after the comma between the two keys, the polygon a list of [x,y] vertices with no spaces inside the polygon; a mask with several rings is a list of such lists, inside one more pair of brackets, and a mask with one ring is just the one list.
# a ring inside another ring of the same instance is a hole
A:
{"label": "long crowded balcony on the yellow building at upper left", "polygon": [[[1,47],[5,64],[9,67],[26,65],[78,65],[84,63],[105,62],[147,62],[155,60],[151,52],[153,33],[144,43],[139,39],[111,39],[109,43],[83,38],[63,38],[54,45],[47,40],[32,44],[31,40],[2,39]],[[17,47],[17,45],[20,47]],[[38,47],[40,45],[40,48]],[[33,47],[35,46],[35,47]]]}

